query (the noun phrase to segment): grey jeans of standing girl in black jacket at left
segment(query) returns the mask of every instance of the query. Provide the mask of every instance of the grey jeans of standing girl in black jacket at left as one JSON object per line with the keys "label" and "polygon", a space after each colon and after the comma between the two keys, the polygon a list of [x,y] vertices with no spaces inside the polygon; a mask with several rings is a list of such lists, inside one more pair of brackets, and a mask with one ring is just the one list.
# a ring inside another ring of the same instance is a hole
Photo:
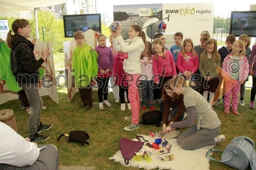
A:
{"label": "grey jeans of standing girl in black jacket at left", "polygon": [[42,99],[38,90],[38,83],[18,83],[25,90],[29,106],[29,135],[37,133],[36,127],[40,124]]}

